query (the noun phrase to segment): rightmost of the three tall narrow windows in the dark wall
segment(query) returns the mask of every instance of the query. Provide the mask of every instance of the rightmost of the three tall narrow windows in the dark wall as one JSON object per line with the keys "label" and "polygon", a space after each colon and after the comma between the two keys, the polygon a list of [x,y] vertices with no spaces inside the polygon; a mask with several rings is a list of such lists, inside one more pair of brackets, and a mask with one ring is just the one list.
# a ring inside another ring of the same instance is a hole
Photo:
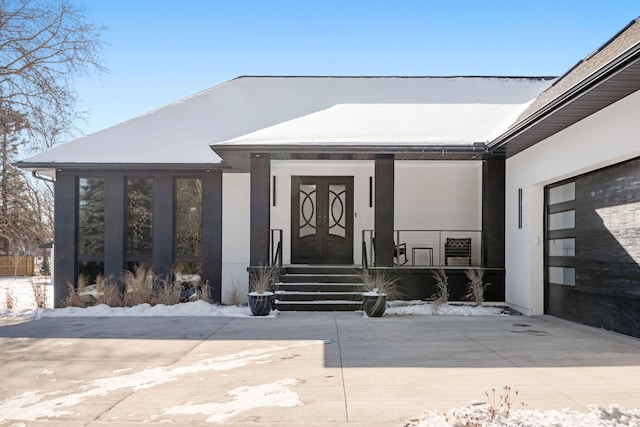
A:
{"label": "rightmost of the three tall narrow windows in the dark wall", "polygon": [[175,180],[174,270],[176,280],[198,281],[202,274],[202,180]]}

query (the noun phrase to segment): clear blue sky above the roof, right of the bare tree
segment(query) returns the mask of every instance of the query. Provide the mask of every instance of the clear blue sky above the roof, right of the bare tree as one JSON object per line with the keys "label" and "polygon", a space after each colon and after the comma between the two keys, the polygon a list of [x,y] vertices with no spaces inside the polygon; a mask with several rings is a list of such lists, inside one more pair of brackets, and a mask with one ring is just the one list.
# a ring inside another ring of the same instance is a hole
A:
{"label": "clear blue sky above the roof, right of the bare tree", "polygon": [[558,76],[640,0],[71,0],[103,25],[76,136],[241,75]]}

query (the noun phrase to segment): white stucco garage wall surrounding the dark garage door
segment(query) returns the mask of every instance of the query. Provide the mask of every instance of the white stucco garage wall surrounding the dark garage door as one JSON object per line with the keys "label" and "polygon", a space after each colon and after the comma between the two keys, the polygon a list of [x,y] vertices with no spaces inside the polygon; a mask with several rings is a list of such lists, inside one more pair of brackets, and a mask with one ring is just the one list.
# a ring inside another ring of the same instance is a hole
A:
{"label": "white stucco garage wall surrounding the dark garage door", "polygon": [[[525,314],[544,303],[544,186],[640,156],[640,91],[506,162],[506,301]],[[518,189],[523,227],[518,229]]]}

